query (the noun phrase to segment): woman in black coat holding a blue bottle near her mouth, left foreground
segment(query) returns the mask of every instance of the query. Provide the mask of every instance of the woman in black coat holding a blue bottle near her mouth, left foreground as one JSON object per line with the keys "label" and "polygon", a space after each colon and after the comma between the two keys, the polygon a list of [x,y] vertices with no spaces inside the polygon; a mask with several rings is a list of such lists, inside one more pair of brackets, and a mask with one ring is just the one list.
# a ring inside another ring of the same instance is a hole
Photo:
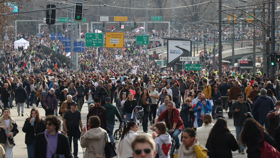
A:
{"label": "woman in black coat holding a blue bottle near her mouth, left foreground", "polygon": [[[34,121],[34,125],[31,125],[32,121]],[[43,119],[40,118],[38,109],[36,107],[32,108],[32,110],[30,111],[30,117],[26,118],[22,128],[22,132],[26,133],[25,144],[27,146],[28,157],[33,157],[36,135],[45,132],[45,130],[46,125],[44,124]]]}

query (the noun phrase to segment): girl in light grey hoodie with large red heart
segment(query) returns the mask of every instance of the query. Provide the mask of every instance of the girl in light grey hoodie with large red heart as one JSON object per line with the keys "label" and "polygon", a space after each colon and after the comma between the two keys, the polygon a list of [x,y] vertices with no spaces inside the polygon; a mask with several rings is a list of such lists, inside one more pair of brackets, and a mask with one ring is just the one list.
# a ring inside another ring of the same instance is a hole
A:
{"label": "girl in light grey hoodie with large red heart", "polygon": [[171,146],[171,137],[166,133],[165,122],[159,122],[155,126],[155,133],[153,133],[153,138],[156,143],[156,154],[159,158],[170,158],[169,149]]}

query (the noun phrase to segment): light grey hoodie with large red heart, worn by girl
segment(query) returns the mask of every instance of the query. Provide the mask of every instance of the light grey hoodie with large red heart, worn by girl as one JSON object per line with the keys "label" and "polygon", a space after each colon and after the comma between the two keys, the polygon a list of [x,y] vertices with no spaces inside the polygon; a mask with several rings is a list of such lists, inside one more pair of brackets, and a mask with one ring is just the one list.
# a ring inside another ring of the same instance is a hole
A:
{"label": "light grey hoodie with large red heart, worn by girl", "polygon": [[156,152],[159,154],[159,158],[169,158],[169,149],[171,146],[171,137],[169,134],[160,135],[154,139],[156,143]]}

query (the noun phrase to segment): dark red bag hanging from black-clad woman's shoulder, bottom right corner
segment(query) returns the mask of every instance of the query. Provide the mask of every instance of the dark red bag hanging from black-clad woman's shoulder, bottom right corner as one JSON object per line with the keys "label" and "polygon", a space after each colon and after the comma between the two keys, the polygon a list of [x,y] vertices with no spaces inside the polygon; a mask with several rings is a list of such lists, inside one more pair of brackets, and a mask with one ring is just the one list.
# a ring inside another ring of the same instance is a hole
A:
{"label": "dark red bag hanging from black-clad woman's shoulder, bottom right corner", "polygon": [[[261,132],[262,138],[264,140],[264,133]],[[262,141],[262,140],[261,140]],[[260,142],[261,142],[260,141]],[[259,143],[260,143],[259,142]],[[259,147],[260,148],[260,147]],[[264,140],[263,146],[260,148],[261,150],[261,158],[280,158],[280,153],[277,149],[271,146],[268,142]]]}

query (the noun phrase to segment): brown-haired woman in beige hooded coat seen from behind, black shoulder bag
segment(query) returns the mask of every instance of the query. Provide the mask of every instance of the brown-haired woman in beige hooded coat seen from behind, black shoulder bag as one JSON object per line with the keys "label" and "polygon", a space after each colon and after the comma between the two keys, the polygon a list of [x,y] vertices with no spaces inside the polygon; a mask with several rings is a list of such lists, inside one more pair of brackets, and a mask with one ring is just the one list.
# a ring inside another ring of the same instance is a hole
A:
{"label": "brown-haired woman in beige hooded coat seen from behind, black shoulder bag", "polygon": [[[105,157],[105,144],[110,142],[108,133],[100,128],[98,116],[91,116],[88,119],[89,130],[83,128],[81,134],[81,147],[86,148],[84,158]],[[106,135],[106,137],[105,137]]]}

